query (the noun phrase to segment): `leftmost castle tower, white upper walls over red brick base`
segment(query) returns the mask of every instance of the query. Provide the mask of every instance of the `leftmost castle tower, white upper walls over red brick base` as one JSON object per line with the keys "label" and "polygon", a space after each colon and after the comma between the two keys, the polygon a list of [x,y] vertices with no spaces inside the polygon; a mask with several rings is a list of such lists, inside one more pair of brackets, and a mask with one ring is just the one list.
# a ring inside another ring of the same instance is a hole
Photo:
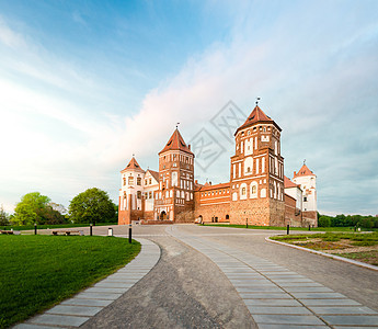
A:
{"label": "leftmost castle tower, white upper walls over red brick base", "polygon": [[144,179],[145,170],[133,157],[121,171],[122,188],[119,189],[118,225],[130,224],[144,216]]}

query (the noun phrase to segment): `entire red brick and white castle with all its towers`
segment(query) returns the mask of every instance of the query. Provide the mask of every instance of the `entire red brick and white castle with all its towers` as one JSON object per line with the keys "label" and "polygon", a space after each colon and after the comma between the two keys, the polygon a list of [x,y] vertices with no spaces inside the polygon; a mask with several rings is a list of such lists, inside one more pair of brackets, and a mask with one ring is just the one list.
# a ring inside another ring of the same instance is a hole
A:
{"label": "entire red brick and white castle with all its towers", "polygon": [[306,163],[284,175],[280,127],[257,105],[234,133],[230,181],[194,181],[194,157],[176,128],[159,152],[159,171],[133,157],[121,171],[118,225],[230,223],[317,226],[317,177]]}

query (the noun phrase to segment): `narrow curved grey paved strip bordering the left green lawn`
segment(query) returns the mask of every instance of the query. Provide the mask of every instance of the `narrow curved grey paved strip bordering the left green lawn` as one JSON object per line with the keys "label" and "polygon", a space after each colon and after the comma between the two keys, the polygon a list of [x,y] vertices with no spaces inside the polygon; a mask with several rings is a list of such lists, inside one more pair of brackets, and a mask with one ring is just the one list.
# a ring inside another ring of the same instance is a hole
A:
{"label": "narrow curved grey paved strip bordering the left green lawn", "polygon": [[70,299],[15,326],[18,329],[51,329],[80,327],[103,308],[119,298],[159,261],[160,248],[150,240],[137,238],[141,251],[131,262],[116,273]]}

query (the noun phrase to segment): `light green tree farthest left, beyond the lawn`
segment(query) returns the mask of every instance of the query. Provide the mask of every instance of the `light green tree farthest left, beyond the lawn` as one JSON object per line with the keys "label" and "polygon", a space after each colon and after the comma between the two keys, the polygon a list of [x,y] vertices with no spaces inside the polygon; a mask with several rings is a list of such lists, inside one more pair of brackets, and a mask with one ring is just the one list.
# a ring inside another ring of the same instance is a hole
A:
{"label": "light green tree farthest left, beyond the lawn", "polygon": [[15,205],[12,223],[15,225],[43,224],[41,213],[47,207],[50,198],[39,192],[27,193]]}

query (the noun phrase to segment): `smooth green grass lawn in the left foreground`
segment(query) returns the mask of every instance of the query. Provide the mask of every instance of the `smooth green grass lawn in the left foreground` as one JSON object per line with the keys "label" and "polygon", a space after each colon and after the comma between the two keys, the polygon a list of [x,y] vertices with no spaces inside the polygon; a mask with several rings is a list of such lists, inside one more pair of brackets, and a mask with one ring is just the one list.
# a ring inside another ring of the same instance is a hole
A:
{"label": "smooth green grass lawn in the left foreground", "polygon": [[0,235],[0,328],[72,296],[139,251],[139,242],[115,237]]}

